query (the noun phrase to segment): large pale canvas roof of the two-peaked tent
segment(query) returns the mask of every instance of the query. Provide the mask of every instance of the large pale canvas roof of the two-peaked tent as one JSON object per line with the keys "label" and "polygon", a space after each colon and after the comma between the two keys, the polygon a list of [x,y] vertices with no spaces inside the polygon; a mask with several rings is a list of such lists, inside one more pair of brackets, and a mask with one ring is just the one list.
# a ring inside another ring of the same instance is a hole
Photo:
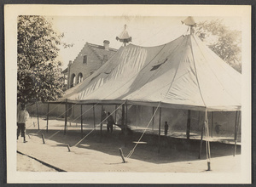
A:
{"label": "large pale canvas roof of the two-peaked tent", "polygon": [[241,74],[194,35],[157,47],[129,44],[62,101],[208,111],[241,109]]}

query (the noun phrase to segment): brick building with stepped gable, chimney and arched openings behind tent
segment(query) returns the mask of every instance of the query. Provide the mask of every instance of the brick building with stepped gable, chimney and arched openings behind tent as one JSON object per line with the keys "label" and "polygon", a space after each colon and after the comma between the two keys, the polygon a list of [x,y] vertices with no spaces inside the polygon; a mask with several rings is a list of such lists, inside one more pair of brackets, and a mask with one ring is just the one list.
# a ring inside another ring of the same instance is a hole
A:
{"label": "brick building with stepped gable, chimney and arched openings behind tent", "polygon": [[62,71],[66,79],[67,89],[89,77],[116,51],[115,48],[109,48],[108,40],[103,41],[103,46],[86,42],[79,55],[73,61],[70,60],[67,68]]}

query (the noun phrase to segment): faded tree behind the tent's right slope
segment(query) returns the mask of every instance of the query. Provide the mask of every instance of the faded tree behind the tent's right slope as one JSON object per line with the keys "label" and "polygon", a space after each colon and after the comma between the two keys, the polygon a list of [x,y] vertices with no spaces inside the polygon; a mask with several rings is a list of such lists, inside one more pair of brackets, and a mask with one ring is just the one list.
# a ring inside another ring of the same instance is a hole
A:
{"label": "faded tree behind the tent's right slope", "polygon": [[241,72],[241,31],[230,30],[223,20],[197,23],[195,34],[221,59]]}

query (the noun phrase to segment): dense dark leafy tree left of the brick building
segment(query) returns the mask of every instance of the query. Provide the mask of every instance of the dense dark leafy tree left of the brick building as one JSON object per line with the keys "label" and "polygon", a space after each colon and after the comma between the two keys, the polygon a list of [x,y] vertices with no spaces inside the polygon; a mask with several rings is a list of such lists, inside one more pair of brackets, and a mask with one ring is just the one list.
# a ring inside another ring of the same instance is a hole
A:
{"label": "dense dark leafy tree left of the brick building", "polygon": [[44,16],[18,17],[18,88],[20,103],[61,98],[63,76],[56,59],[63,35]]}

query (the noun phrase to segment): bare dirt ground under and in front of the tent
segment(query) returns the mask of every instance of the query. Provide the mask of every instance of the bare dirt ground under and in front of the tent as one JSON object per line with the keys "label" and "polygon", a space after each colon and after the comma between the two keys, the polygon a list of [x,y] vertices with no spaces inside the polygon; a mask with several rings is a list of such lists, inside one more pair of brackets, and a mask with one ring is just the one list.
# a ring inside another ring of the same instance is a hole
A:
{"label": "bare dirt ground under and in front of the tent", "polygon": [[[91,125],[84,124],[83,134],[77,123],[68,123],[64,134],[62,120],[49,120],[49,130],[46,132],[46,121],[40,119],[40,129],[36,118],[27,123],[27,143],[17,141],[17,171],[56,172],[39,161],[67,172],[139,172],[139,173],[202,173],[207,172],[206,144],[202,144],[201,159],[198,159],[200,140],[183,137],[165,137],[145,133],[141,144],[137,140],[142,133],[121,133],[119,127],[108,133],[106,127],[96,130]],[[45,144],[43,144],[44,134]],[[86,136],[87,135],[87,136]],[[86,136],[79,143],[81,137]],[[79,143],[79,144],[78,144]],[[76,145],[77,144],[77,145]],[[68,151],[68,147],[70,151]],[[119,153],[122,149],[125,163]],[[132,151],[133,150],[133,151]],[[159,152],[160,150],[160,152]],[[241,147],[237,146],[237,155],[233,156],[234,144],[211,142],[212,173],[236,173],[241,170]],[[127,158],[129,153],[130,158]],[[34,159],[28,157],[38,159]]]}

